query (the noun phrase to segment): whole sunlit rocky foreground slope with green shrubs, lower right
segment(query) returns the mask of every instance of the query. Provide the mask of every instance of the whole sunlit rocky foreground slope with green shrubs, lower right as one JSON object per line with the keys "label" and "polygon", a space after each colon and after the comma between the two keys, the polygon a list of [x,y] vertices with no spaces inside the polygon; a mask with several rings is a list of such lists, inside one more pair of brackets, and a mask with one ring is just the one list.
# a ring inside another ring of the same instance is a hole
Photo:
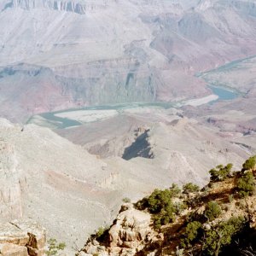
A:
{"label": "whole sunlit rocky foreground slope with green shrubs, lower right", "polygon": [[[148,198],[137,202],[140,211],[131,204],[125,204],[110,229],[102,236],[92,235],[77,256],[190,255],[191,252],[193,255],[213,255],[210,250],[219,256],[255,255],[256,196],[255,188],[250,186],[243,187],[250,191],[246,197],[240,194],[239,183],[244,180],[245,173],[250,174],[247,183],[255,186],[256,169],[252,168],[246,172],[232,172],[229,177],[211,181],[203,189],[189,193],[183,189],[176,195],[168,195],[166,189],[160,195],[156,194],[160,192],[156,189]],[[170,189],[175,193],[173,188]],[[166,205],[164,201],[167,198],[173,210],[162,207]],[[213,212],[209,207],[211,204],[219,208],[218,216],[212,219],[208,218],[209,212]],[[160,205],[159,212],[150,208]],[[168,211],[172,211],[172,220],[166,221],[170,215],[163,214]],[[195,228],[195,224],[199,224],[199,228]],[[191,232],[194,231],[191,239]],[[218,240],[219,245],[212,245],[212,237],[218,239],[219,236],[221,239],[222,234],[229,241]],[[206,246],[208,242],[210,247]]]}

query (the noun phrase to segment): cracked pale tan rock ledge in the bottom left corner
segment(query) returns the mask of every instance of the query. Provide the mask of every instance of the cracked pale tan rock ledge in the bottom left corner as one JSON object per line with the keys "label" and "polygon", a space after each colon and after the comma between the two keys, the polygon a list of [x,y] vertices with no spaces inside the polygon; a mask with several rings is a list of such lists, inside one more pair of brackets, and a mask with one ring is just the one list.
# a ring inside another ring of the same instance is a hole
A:
{"label": "cracked pale tan rock ledge in the bottom left corner", "polygon": [[46,242],[45,230],[28,221],[0,225],[0,255],[43,256]]}

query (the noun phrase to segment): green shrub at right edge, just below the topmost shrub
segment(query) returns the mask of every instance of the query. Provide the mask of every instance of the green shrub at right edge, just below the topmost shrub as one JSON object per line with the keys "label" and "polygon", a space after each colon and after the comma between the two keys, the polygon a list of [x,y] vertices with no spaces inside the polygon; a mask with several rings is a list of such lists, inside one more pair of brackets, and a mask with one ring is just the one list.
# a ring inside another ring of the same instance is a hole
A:
{"label": "green shrub at right edge, just below the topmost shrub", "polygon": [[237,189],[241,197],[252,195],[255,189],[255,180],[252,172],[247,172],[238,179]]}

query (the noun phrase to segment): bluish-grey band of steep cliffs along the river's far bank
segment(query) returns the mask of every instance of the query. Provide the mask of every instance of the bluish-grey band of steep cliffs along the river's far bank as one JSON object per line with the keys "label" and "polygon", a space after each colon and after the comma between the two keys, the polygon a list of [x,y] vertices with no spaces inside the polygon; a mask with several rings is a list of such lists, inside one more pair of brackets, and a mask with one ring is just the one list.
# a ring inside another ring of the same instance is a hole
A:
{"label": "bluish-grey band of steep cliffs along the river's far bank", "polygon": [[[153,75],[137,73],[140,67],[131,62],[122,70],[109,74],[103,64],[95,68],[96,77],[72,78],[55,73],[48,67],[26,64],[0,67],[0,114],[25,121],[34,113],[49,112],[86,105],[121,102],[154,102],[156,88]],[[11,113],[7,109],[12,108]]]}

